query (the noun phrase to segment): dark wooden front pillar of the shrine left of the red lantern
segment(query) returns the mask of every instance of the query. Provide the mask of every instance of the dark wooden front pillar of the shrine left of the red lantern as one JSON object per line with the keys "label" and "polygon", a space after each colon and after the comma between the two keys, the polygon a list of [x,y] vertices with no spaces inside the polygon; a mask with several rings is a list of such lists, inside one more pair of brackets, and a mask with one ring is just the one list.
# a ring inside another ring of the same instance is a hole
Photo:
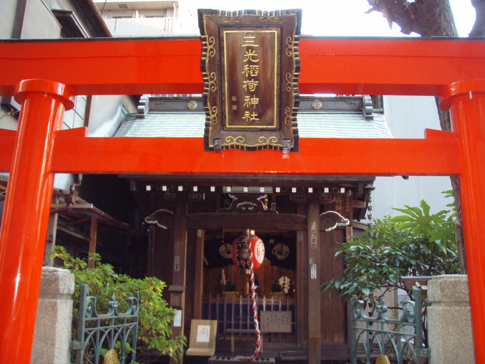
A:
{"label": "dark wooden front pillar of the shrine left of the red lantern", "polygon": [[[181,311],[181,325],[173,327],[173,336],[183,334],[183,327],[185,323],[185,274],[186,274],[186,256],[187,256],[187,214],[189,205],[186,196],[177,198],[177,206],[175,208],[175,227],[174,227],[174,260],[172,272],[172,285],[176,287],[183,287],[178,293],[170,295],[170,305]],[[170,358],[170,363],[177,363],[173,358]]]}

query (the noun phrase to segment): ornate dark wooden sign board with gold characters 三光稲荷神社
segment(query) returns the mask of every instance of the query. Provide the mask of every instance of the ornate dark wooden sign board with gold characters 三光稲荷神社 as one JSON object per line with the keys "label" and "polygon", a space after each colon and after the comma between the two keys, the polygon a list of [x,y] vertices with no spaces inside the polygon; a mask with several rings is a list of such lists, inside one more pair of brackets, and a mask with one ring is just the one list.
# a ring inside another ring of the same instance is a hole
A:
{"label": "ornate dark wooden sign board with gold characters \u4e09\u5149\u7a32\u8377\u795e\u793e", "polygon": [[298,150],[301,10],[199,9],[205,150]]}

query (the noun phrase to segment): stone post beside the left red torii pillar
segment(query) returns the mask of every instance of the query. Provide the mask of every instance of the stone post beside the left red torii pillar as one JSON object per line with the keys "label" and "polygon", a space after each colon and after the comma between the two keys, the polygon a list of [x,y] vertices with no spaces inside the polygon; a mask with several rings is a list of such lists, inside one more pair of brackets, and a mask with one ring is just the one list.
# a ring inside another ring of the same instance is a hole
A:
{"label": "stone post beside the left red torii pillar", "polygon": [[31,364],[69,363],[74,275],[66,269],[43,267]]}

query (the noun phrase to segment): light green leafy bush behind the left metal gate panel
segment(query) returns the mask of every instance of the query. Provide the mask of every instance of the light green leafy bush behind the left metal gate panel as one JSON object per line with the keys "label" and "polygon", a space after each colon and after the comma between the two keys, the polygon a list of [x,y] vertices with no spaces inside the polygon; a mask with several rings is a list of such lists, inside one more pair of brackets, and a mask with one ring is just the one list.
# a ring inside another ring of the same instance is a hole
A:
{"label": "light green leafy bush behind the left metal gate panel", "polygon": [[73,258],[65,247],[56,246],[52,258],[59,258],[64,262],[64,267],[69,269],[75,276],[76,286],[74,291],[73,307],[73,337],[77,334],[77,318],[79,317],[80,284],[89,285],[89,293],[97,297],[99,312],[106,310],[107,303],[114,294],[119,301],[119,311],[123,312],[127,298],[133,292],[140,294],[140,306],[138,311],[138,362],[151,361],[161,355],[168,354],[178,360],[183,356],[183,347],[186,338],[183,335],[172,338],[171,322],[174,320],[176,310],[168,306],[162,298],[165,282],[154,278],[134,279],[127,275],[116,274],[113,266],[101,263],[99,254],[90,254],[89,259],[96,262],[95,268],[88,268],[87,263],[79,258]]}

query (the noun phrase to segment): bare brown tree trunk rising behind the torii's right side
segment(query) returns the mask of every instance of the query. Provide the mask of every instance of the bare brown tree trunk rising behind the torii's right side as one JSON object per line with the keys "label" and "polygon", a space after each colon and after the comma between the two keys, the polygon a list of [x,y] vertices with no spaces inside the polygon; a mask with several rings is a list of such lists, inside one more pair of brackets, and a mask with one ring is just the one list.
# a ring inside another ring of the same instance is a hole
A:
{"label": "bare brown tree trunk rising behind the torii's right side", "polygon": [[[368,2],[372,6],[369,12],[381,12],[388,19],[389,26],[395,22],[401,27],[401,32],[404,34],[414,32],[421,36],[458,36],[449,0],[368,0]],[[484,36],[485,0],[472,0],[471,2],[477,12],[477,17],[470,36]],[[451,132],[450,114],[439,107],[439,98],[435,99],[441,130]],[[467,274],[458,178],[451,176],[450,179],[456,209],[455,237],[458,260],[461,273]]]}

